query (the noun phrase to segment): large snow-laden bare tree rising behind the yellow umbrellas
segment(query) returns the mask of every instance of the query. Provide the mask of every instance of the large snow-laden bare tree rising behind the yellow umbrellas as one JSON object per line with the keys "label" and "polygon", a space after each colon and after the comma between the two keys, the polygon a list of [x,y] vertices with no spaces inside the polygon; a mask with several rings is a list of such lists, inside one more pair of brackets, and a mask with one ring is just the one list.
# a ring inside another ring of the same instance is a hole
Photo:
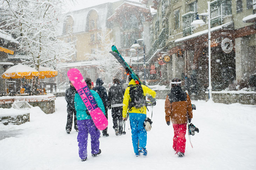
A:
{"label": "large snow-laden bare tree rising behind the yellow umbrellas", "polygon": [[23,63],[39,70],[39,65],[56,66],[58,60],[70,60],[75,46],[58,39],[58,25],[65,19],[63,0],[2,0],[0,29],[20,43],[18,51],[26,55]]}

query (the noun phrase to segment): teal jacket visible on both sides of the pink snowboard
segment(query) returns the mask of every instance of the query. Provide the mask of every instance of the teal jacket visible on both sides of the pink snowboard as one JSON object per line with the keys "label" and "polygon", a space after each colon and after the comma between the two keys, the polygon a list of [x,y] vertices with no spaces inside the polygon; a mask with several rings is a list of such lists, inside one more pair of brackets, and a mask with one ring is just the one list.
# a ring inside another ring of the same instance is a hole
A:
{"label": "teal jacket visible on both sides of the pink snowboard", "polygon": [[[94,96],[95,101],[97,102],[98,107],[102,110],[102,112],[105,114],[105,108],[103,105],[103,102],[101,100],[101,97],[99,97],[98,93],[94,90],[90,90],[92,93],[92,96]],[[84,120],[84,119],[91,119],[91,116],[89,116],[86,113],[86,106],[82,100],[82,98],[80,97],[80,95],[78,93],[75,94],[75,109],[76,109],[76,117],[77,120]]]}

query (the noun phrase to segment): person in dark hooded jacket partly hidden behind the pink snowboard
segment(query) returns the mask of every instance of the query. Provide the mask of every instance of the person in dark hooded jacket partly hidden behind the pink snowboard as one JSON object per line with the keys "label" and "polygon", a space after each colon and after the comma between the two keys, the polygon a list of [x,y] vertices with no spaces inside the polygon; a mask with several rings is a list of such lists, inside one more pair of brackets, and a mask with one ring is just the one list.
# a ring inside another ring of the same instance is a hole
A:
{"label": "person in dark hooded jacket partly hidden behind the pink snowboard", "polygon": [[[96,91],[99,94],[99,97],[101,97],[105,107],[105,116],[108,119],[108,94],[106,88],[103,87],[102,84],[104,84],[104,82],[102,79],[98,78],[96,80],[96,86],[92,90]],[[108,127],[102,131],[102,134],[104,137],[109,136]]]}

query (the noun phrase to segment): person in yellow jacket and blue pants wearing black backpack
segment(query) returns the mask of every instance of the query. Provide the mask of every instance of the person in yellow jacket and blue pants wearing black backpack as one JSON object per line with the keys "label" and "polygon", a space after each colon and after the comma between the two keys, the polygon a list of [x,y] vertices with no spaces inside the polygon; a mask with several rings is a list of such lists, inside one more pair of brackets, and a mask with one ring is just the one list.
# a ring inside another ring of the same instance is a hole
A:
{"label": "person in yellow jacket and blue pants wearing black backpack", "polygon": [[124,93],[123,100],[123,120],[127,119],[127,111],[130,116],[130,126],[132,131],[132,145],[136,156],[143,153],[147,155],[147,132],[145,130],[144,120],[146,119],[146,95],[155,98],[156,93],[147,86],[138,84],[129,76],[129,84]]}

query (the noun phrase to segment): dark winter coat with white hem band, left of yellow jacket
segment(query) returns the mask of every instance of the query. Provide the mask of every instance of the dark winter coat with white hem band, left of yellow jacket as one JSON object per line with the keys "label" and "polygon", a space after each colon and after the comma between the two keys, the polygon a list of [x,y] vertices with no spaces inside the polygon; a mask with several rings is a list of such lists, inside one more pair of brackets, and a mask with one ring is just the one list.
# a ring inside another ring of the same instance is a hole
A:
{"label": "dark winter coat with white hem band, left of yellow jacket", "polygon": [[114,84],[109,88],[108,94],[108,107],[111,107],[111,104],[123,104],[125,89],[118,83]]}

